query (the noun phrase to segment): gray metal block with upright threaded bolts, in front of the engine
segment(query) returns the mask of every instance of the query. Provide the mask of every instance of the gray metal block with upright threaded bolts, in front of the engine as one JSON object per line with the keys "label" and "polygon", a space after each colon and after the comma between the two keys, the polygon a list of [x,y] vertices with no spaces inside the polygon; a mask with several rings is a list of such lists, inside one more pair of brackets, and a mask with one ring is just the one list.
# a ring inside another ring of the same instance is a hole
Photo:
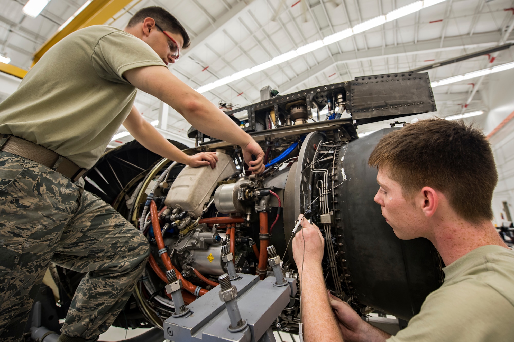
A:
{"label": "gray metal block with upright threaded bolts, in front of the engine", "polygon": [[[170,317],[164,321],[164,337],[172,341],[245,342],[259,340],[296,293],[296,280],[287,278],[290,286],[276,287],[274,277],[263,281],[258,276],[242,274],[232,281],[237,287],[237,303],[248,328],[231,333],[225,303],[219,300],[219,286],[196,299],[188,307],[193,312],[185,317]],[[291,290],[294,289],[294,290]],[[170,334],[173,333],[173,335]]]}

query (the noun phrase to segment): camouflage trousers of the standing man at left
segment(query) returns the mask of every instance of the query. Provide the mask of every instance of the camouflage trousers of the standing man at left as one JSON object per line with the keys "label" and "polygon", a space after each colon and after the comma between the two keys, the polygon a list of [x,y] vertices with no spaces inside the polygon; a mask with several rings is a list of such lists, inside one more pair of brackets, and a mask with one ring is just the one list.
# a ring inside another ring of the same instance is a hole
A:
{"label": "camouflage trousers of the standing man at left", "polygon": [[68,336],[106,331],[130,297],[148,241],[83,185],[0,152],[0,340],[21,338],[50,261],[87,273],[61,329]]}

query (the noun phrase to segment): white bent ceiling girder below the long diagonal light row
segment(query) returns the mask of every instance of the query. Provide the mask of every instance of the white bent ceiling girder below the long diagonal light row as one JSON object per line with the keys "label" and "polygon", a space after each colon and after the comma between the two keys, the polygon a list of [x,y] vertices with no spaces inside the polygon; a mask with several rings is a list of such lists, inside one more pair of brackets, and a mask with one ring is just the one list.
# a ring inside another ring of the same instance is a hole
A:
{"label": "white bent ceiling girder below the long diagonal light row", "polygon": [[430,53],[445,50],[460,50],[463,48],[471,49],[478,47],[488,47],[498,44],[498,32],[480,33],[447,37],[443,46],[440,47],[440,39],[418,41],[417,44],[402,44],[388,47],[377,47],[369,50],[359,50],[335,54],[321,61],[318,65],[300,73],[297,77],[279,86],[281,93],[287,93],[290,89],[314,77],[323,70],[339,63],[359,62],[364,60],[375,60],[391,58],[395,56],[405,56],[411,54]]}

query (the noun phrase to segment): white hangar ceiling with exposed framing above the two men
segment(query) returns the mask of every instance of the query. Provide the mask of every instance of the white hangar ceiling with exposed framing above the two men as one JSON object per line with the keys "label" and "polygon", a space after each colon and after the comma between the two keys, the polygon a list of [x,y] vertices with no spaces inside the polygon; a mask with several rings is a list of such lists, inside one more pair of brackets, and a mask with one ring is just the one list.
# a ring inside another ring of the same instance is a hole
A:
{"label": "white hangar ceiling with exposed framing above the two men", "polygon": [[[307,43],[409,5],[412,0],[134,0],[106,24],[123,28],[131,15],[146,6],[168,9],[192,37],[170,70],[193,88],[251,68]],[[33,53],[79,9],[83,0],[51,0],[36,18],[25,16],[25,0],[0,0],[0,54],[28,69]],[[361,75],[400,72],[454,58],[514,40],[512,0],[446,0],[429,8],[355,34],[204,95],[214,103],[247,105],[260,99],[270,85],[281,93]],[[435,68],[437,81],[514,61],[508,49],[495,55]],[[492,62],[492,63],[491,63]],[[488,77],[434,88],[437,115],[486,109],[480,89]],[[151,121],[159,118],[160,101],[140,92],[136,106]],[[172,135],[185,136],[189,124],[173,109]],[[130,140],[130,137],[119,141]],[[113,143],[117,145],[118,143]]]}

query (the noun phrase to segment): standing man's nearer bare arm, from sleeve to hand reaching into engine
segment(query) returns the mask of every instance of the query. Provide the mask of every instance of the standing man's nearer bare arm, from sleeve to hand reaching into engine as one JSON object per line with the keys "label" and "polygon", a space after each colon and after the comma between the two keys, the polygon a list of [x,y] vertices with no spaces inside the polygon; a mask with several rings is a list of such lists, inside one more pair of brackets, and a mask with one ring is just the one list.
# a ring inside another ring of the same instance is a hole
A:
{"label": "standing man's nearer bare arm, from sleeve to hand reaching into engine", "polygon": [[[135,68],[125,71],[123,77],[136,88],[173,107],[204,134],[241,146],[249,170],[253,173],[264,171],[264,152],[259,144],[202,94],[176,78],[168,68]],[[252,155],[255,161],[252,161]]]}

